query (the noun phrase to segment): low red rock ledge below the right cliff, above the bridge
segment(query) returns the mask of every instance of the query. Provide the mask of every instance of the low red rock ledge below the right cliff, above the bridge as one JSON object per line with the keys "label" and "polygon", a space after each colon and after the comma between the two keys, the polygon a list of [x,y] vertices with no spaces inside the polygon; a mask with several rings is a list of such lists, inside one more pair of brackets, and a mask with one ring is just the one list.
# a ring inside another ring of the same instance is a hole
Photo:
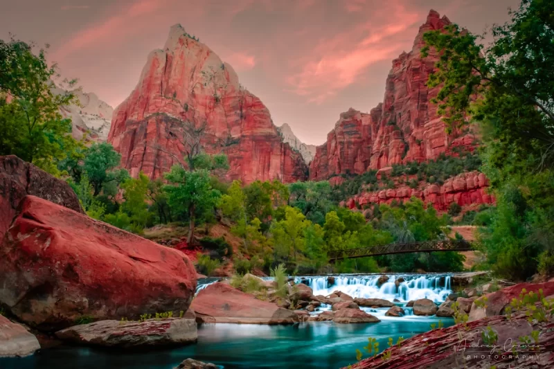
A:
{"label": "low red rock ledge below the right cliff, above the bridge", "polygon": [[456,202],[460,206],[470,204],[494,204],[494,196],[488,193],[489,181],[480,172],[466,172],[454,178],[447,179],[443,186],[429,184],[424,189],[399,188],[380,190],[377,192],[362,192],[346,201],[346,206],[355,208],[357,204],[391,204],[396,201],[408,201],[411,197],[422,199],[425,204],[433,204],[437,210],[448,210],[450,204]]}

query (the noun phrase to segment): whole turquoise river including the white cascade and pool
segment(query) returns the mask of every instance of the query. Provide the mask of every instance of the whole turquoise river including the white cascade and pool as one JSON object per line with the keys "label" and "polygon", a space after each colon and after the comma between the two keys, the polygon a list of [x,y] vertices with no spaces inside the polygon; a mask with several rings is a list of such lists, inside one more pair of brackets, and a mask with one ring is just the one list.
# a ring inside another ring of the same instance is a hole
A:
{"label": "whole turquoise river including the white cascade and pool", "polygon": [[[430,298],[440,303],[450,294],[450,277],[445,274],[389,275],[389,281],[377,287],[380,275],[342,275],[296,277],[296,282],[310,285],[314,295],[343,291],[352,297],[397,299],[406,315],[384,316],[387,308],[362,308],[381,319],[380,323],[346,324],[307,322],[288,326],[204,324],[198,330],[198,343],[182,348],[155,351],[100,350],[60,347],[38,352],[24,359],[0,359],[6,369],[172,369],[192,357],[212,362],[225,369],[247,368],[341,368],[356,361],[356,349],[362,350],[368,337],[387,347],[388,338],[396,342],[427,332],[438,324],[435,316],[414,316],[405,305],[409,300]],[[396,287],[394,280],[405,282]],[[212,280],[200,280],[202,289]],[[323,307],[329,309],[330,307]],[[321,311],[320,311],[321,312]],[[318,314],[316,312],[314,314]],[[454,324],[452,318],[440,318],[443,325]],[[362,350],[363,351],[363,350]]]}

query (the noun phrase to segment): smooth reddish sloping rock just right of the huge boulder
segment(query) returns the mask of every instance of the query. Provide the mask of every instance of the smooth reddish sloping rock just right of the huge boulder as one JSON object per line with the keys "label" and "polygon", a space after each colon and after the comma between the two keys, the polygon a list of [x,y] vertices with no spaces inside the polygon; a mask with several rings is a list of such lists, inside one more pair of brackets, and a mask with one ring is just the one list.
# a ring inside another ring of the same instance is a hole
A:
{"label": "smooth reddish sloping rock just right of the huge boulder", "polygon": [[298,316],[221,282],[199,291],[191,307],[198,323],[292,324]]}

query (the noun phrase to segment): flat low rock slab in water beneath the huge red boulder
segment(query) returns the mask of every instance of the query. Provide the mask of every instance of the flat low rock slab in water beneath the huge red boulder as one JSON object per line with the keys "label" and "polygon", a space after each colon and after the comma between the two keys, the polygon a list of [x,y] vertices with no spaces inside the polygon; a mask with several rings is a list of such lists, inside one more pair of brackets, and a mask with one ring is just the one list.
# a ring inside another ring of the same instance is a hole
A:
{"label": "flat low rock slab in water beneath the huge red boulder", "polygon": [[98,321],[75,325],[56,332],[58,339],[117,348],[167,346],[195,343],[196,322],[192,319],[168,318],[148,321]]}

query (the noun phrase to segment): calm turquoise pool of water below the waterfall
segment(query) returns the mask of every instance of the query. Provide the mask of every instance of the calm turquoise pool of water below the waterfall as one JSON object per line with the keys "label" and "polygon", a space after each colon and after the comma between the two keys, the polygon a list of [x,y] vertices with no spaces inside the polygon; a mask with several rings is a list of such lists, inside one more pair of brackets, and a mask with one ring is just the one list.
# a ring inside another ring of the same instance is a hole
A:
{"label": "calm turquoise pool of water below the waterfall", "polygon": [[[379,314],[380,315],[380,314]],[[368,337],[386,348],[388,337],[427,332],[435,317],[383,318],[380,323],[338,325],[308,322],[294,326],[202,325],[198,343],[183,348],[127,352],[91,348],[54,348],[24,359],[0,359],[5,369],[172,369],[192,357],[225,369],[341,368],[356,361]],[[445,327],[452,319],[442,319]]]}

